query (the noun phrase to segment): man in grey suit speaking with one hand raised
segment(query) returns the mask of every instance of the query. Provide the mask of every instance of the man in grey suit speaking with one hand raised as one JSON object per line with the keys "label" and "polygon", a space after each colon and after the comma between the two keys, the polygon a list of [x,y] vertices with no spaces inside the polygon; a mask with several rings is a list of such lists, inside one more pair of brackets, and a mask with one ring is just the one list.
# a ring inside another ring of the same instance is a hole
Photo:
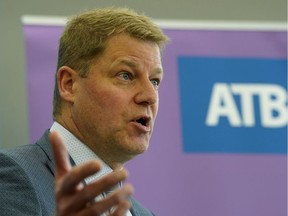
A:
{"label": "man in grey suit speaking with one hand raised", "polygon": [[152,213],[123,165],[145,152],[158,110],[167,37],[128,9],[87,11],[60,39],[52,127],[0,154],[1,215]]}

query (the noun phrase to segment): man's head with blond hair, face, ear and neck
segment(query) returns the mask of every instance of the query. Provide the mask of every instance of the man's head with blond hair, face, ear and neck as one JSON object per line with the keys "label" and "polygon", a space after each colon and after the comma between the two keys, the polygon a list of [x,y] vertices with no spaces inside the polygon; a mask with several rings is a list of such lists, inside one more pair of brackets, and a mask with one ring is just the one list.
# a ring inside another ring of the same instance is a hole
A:
{"label": "man's head with blond hair, face, ear and neck", "polygon": [[111,167],[148,148],[166,40],[127,9],[83,13],[61,37],[54,118]]}

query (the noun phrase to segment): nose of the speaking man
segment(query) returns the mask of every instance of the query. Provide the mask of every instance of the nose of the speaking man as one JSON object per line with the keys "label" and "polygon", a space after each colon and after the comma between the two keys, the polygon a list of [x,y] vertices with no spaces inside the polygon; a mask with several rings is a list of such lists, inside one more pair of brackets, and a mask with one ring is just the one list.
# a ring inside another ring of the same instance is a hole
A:
{"label": "nose of the speaking man", "polygon": [[138,83],[135,102],[142,105],[158,103],[158,91],[148,78]]}

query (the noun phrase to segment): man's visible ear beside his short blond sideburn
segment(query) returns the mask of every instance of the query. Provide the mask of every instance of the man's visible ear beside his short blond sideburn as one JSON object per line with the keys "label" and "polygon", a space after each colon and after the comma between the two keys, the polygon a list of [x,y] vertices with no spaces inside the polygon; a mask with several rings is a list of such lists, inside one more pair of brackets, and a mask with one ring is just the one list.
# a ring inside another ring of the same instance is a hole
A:
{"label": "man's visible ear beside his short blond sideburn", "polygon": [[74,88],[75,81],[78,77],[76,71],[68,66],[59,68],[57,72],[57,81],[59,94],[64,101],[74,102]]}

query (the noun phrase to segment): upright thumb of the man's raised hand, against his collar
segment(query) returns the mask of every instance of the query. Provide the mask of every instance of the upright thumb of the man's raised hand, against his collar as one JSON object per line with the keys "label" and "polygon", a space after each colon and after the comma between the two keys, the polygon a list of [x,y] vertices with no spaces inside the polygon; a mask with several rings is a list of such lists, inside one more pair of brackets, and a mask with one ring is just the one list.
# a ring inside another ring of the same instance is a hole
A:
{"label": "upright thumb of the man's raised hand, against his collar", "polygon": [[61,136],[57,132],[51,132],[49,140],[56,163],[56,179],[58,179],[71,170],[69,155]]}

